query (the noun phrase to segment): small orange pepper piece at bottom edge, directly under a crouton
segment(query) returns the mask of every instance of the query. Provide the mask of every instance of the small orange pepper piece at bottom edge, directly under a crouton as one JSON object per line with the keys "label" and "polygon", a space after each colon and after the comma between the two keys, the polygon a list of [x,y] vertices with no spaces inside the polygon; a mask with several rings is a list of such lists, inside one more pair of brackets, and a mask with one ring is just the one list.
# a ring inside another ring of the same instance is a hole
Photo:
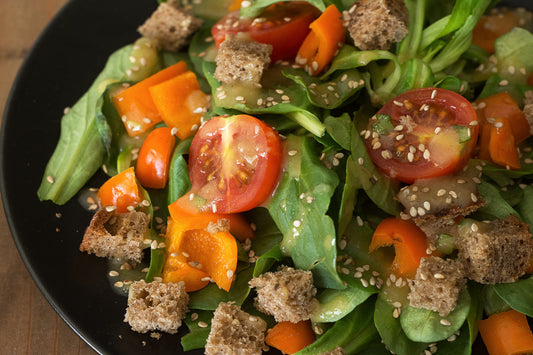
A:
{"label": "small orange pepper piece at bottom edge, directly under a crouton", "polygon": [[265,337],[265,343],[284,354],[294,354],[315,341],[311,321],[298,323],[279,322],[270,329]]}

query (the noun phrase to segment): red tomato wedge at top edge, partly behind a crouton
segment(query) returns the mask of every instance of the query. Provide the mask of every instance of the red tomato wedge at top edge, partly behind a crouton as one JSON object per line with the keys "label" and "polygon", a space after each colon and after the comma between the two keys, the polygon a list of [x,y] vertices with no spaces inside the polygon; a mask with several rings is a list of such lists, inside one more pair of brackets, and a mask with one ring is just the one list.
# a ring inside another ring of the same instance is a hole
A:
{"label": "red tomato wedge at top edge, partly behind a crouton", "polygon": [[280,2],[269,6],[255,19],[239,18],[239,11],[224,16],[211,29],[217,47],[227,34],[245,32],[257,42],[271,44],[272,62],[291,60],[296,56],[309,25],[320,15],[320,11],[306,2]]}

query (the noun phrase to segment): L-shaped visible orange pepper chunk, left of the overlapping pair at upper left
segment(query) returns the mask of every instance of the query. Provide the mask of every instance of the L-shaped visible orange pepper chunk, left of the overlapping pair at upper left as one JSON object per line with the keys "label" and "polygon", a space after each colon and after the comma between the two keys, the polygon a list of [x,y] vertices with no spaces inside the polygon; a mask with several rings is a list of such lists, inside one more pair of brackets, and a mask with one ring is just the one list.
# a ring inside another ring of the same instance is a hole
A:
{"label": "L-shaped visible orange pepper chunk, left of the overlapping pair at upper left", "polygon": [[186,71],[187,64],[184,61],[178,62],[130,86],[113,98],[113,104],[130,137],[144,134],[162,120],[148,88]]}

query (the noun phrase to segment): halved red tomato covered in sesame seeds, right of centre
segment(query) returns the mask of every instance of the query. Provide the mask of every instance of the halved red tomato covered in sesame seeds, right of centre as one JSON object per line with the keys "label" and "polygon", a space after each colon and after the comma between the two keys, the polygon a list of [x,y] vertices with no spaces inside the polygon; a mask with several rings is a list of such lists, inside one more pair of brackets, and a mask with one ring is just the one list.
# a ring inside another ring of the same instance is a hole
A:
{"label": "halved red tomato covered in sesame seeds, right of centre", "polygon": [[[386,116],[380,114],[390,116],[390,122],[384,123]],[[476,146],[476,111],[453,91],[410,90],[370,119],[364,137],[372,161],[392,178],[412,183],[452,174],[466,164]]]}

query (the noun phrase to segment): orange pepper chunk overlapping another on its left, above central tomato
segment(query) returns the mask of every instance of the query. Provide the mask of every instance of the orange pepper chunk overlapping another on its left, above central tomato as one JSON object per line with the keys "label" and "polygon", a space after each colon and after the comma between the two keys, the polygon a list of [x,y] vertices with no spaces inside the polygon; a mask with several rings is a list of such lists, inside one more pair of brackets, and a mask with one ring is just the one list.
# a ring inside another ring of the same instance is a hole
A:
{"label": "orange pepper chunk overlapping another on its left, above central tomato", "polygon": [[178,138],[185,139],[198,129],[209,99],[200,90],[196,74],[186,71],[151,86],[149,92],[161,119],[175,128]]}

